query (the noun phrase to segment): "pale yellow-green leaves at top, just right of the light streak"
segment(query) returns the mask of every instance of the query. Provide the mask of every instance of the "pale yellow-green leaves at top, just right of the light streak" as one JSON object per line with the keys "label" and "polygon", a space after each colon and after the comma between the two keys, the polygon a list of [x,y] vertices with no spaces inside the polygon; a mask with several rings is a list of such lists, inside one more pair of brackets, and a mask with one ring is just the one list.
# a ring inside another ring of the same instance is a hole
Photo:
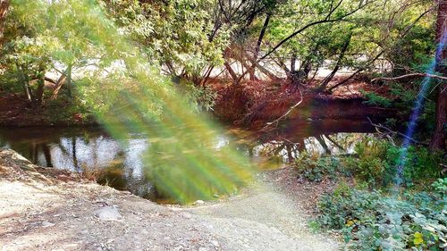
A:
{"label": "pale yellow-green leaves at top, just right of the light streak", "polygon": [[170,74],[200,75],[208,65],[222,63],[229,29],[209,39],[214,23],[209,7],[213,0],[166,2],[102,1],[108,13],[142,48],[151,63],[165,65]]}

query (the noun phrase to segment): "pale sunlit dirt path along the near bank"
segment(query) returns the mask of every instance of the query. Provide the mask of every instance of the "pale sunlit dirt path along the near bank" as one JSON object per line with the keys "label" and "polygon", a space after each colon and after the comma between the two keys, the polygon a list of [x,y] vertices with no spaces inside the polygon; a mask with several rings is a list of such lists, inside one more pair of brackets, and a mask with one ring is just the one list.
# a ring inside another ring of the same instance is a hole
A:
{"label": "pale sunlit dirt path along the near bank", "polygon": [[[28,169],[28,171],[23,171]],[[336,250],[297,201],[258,184],[192,207],[156,205],[94,183],[57,181],[0,151],[0,250]],[[40,170],[42,172],[42,170]],[[61,180],[61,177],[58,177]]]}

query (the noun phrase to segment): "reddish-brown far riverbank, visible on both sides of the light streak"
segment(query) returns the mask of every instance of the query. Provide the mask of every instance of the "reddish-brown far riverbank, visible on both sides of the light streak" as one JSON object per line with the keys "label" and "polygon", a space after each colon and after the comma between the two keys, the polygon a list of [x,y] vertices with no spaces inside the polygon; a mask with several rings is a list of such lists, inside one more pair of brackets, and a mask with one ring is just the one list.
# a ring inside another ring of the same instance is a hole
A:
{"label": "reddish-brown far riverbank, visible on both sides of the light streak", "polygon": [[[312,86],[299,91],[289,85],[275,85],[269,81],[248,81],[232,85],[224,79],[210,84],[215,93],[213,114],[221,121],[257,128],[266,121],[273,121],[286,113],[291,106],[300,104],[288,114],[291,120],[382,120],[395,117],[392,108],[365,105],[363,91],[386,94],[361,81],[336,89],[333,93],[313,93]],[[92,111],[75,104],[64,96],[46,100],[42,107],[30,107],[21,94],[0,92],[0,126],[92,126],[98,125]]]}

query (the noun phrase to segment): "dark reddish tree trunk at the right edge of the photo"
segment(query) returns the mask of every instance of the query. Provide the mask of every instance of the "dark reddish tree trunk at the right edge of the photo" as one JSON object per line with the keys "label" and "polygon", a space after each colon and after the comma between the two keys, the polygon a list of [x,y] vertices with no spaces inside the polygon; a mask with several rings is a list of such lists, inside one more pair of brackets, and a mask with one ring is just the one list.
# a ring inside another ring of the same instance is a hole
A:
{"label": "dark reddish tree trunk at the right edge of the photo", "polygon": [[[438,2],[438,17],[436,21],[436,71],[441,72],[444,76],[447,75],[447,0],[439,0]],[[447,130],[447,83],[438,87],[438,96],[436,100],[436,124],[431,149],[445,149],[445,139]]]}

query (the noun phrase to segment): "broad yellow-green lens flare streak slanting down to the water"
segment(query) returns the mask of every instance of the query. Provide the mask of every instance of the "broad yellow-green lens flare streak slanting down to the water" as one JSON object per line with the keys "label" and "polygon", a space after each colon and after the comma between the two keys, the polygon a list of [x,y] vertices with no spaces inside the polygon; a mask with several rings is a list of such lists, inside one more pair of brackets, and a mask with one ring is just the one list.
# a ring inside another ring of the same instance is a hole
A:
{"label": "broad yellow-green lens flare streak slanting down to the water", "polygon": [[[30,2],[14,0],[12,6],[16,13],[26,13]],[[178,203],[212,199],[231,195],[250,180],[254,169],[248,158],[231,146],[217,147],[219,126],[194,112],[175,86],[148,65],[145,55],[102,6],[91,0],[38,2],[48,13],[57,13],[57,18],[42,18],[39,32],[51,28],[69,38],[61,37],[50,48],[55,61],[61,50],[64,54],[72,50],[65,40],[74,40],[89,48],[75,55],[82,55],[84,61],[100,58],[104,62],[94,62],[103,74],[96,84],[103,85],[99,89],[107,97],[102,103],[106,109],[97,112],[97,119],[114,138],[135,132],[148,135],[145,172],[160,196]],[[73,25],[73,16],[82,25]],[[104,73],[113,68],[117,68],[114,74]]]}

